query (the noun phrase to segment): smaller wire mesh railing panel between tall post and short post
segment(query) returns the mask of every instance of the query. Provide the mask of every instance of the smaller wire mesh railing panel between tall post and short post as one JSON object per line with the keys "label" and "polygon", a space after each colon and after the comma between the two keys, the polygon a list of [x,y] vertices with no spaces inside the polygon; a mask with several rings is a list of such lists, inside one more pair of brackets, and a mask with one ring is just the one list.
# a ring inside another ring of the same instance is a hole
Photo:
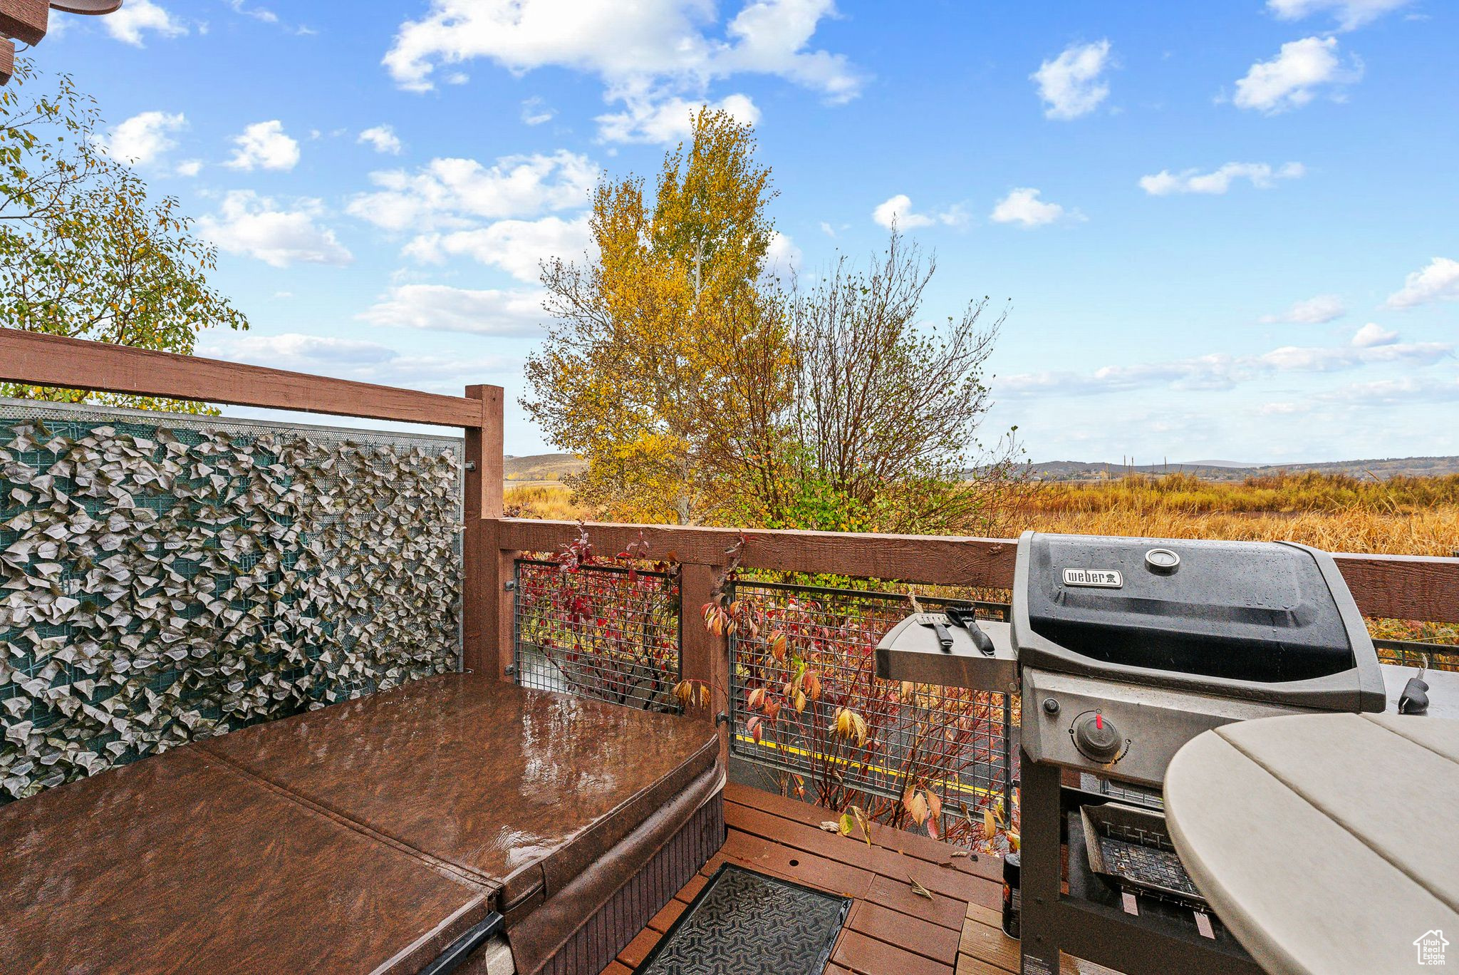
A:
{"label": "smaller wire mesh railing panel between tall post and short post", "polygon": [[524,687],[681,711],[677,572],[518,559],[512,631]]}

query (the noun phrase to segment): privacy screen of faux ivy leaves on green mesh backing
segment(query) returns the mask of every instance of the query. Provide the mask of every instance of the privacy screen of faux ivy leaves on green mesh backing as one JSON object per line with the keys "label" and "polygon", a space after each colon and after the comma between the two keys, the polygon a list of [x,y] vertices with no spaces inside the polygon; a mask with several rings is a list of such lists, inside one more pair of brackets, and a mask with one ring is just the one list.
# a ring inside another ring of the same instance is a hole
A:
{"label": "privacy screen of faux ivy leaves on green mesh backing", "polygon": [[0,400],[0,803],[458,668],[460,455]]}

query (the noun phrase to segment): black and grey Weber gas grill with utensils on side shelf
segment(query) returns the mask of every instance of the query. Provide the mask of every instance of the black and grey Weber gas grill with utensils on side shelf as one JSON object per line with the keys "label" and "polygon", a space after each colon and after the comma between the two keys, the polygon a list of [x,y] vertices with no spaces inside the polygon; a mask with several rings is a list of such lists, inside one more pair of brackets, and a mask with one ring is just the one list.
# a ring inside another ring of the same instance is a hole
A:
{"label": "black and grey Weber gas grill with utensils on side shelf", "polygon": [[1385,709],[1332,556],[1030,531],[1011,620],[983,628],[991,654],[966,626],[947,647],[925,616],[883,639],[881,676],[1023,695],[1024,975],[1058,972],[1061,950],[1128,975],[1259,972],[1185,874],[1158,800],[1110,793],[1158,797],[1180,746],[1231,721]]}

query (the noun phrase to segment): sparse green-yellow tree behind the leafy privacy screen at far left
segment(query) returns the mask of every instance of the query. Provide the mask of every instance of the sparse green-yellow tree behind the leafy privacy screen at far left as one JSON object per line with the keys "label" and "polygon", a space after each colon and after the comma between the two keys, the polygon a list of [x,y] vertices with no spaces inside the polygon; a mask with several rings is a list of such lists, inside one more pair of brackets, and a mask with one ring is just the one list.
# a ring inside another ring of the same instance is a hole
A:
{"label": "sparse green-yellow tree behind the leafy privacy screen at far left", "polygon": [[[191,355],[197,333],[247,328],[209,286],[214,250],[166,197],[101,147],[93,99],[66,74],[54,93],[16,61],[0,90],[0,325]],[[0,384],[10,397],[204,412],[201,403]]]}

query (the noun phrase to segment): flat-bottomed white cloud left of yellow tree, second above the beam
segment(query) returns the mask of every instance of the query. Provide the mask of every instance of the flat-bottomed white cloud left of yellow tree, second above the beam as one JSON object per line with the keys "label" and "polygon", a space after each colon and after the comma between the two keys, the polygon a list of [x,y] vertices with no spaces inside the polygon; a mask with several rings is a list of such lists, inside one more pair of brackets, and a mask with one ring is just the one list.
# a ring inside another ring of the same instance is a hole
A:
{"label": "flat-bottomed white cloud left of yellow tree, second above the beam", "polygon": [[538,331],[543,293],[470,290],[448,285],[400,285],[359,315],[375,325],[463,331],[476,336],[525,336]]}

